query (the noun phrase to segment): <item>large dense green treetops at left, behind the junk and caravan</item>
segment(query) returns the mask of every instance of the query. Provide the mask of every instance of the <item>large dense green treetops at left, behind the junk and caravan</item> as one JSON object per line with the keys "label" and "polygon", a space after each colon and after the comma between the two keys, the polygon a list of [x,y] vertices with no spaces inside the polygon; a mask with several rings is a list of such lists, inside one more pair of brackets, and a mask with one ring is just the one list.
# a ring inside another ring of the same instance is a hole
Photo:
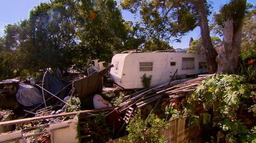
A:
{"label": "large dense green treetops at left, behind the junk and caravan", "polygon": [[9,78],[45,68],[84,71],[90,60],[110,62],[125,44],[141,44],[133,32],[113,0],[40,3],[28,19],[6,25],[0,73]]}

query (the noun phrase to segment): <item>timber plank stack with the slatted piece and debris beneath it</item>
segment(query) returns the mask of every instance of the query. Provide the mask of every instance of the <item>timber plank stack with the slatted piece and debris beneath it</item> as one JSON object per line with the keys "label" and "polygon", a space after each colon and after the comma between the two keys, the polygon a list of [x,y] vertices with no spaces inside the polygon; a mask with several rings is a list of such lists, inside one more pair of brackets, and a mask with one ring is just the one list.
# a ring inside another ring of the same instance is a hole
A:
{"label": "timber plank stack with the slatted piece and debris beneath it", "polygon": [[156,110],[160,103],[163,111],[166,106],[172,106],[176,109],[181,108],[182,104],[184,105],[184,102],[186,102],[185,97],[191,95],[204,78],[211,76],[213,74],[199,75],[195,79],[174,80],[155,88],[140,90],[134,94],[125,96],[126,100],[118,106],[118,111],[122,113],[123,120],[127,124],[138,109],[151,103],[154,103],[154,107],[150,113]]}

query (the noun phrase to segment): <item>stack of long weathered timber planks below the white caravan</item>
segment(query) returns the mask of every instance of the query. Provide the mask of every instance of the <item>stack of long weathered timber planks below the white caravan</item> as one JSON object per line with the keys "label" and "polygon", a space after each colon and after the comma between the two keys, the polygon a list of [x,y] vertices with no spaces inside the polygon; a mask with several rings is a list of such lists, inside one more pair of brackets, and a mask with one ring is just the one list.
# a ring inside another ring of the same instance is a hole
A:
{"label": "stack of long weathered timber planks below the white caravan", "polygon": [[170,83],[164,83],[155,88],[140,90],[134,94],[125,96],[126,101],[119,105],[118,110],[122,113],[132,107],[135,111],[152,103],[153,101],[158,100],[155,105],[156,107],[160,101],[166,99],[172,101],[177,98],[185,97],[186,95],[193,93],[197,85],[200,84],[204,78],[211,76],[213,76],[213,74],[200,75],[198,78],[175,80]]}

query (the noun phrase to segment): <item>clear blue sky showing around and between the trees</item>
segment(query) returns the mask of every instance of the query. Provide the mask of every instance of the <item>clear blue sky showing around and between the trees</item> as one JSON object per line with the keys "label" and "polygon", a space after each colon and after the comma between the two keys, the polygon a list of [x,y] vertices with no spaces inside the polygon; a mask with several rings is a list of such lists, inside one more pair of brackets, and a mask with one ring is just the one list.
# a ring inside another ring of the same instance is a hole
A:
{"label": "clear blue sky showing around and between the trees", "polygon": [[[41,2],[49,2],[47,0],[0,0],[0,37],[4,36],[4,28],[7,24],[14,24],[20,20],[27,19],[29,17],[29,11]],[[213,11],[219,12],[221,5],[224,5],[228,0],[212,0]],[[247,3],[255,5],[256,1],[247,0]],[[213,12],[212,12],[213,13]],[[122,10],[122,16],[125,20],[135,21],[134,15],[129,11]],[[211,19],[209,19],[211,20]],[[195,28],[194,31],[188,33],[181,40],[181,43],[170,43],[175,48],[188,48],[189,39],[200,38],[200,28]]]}

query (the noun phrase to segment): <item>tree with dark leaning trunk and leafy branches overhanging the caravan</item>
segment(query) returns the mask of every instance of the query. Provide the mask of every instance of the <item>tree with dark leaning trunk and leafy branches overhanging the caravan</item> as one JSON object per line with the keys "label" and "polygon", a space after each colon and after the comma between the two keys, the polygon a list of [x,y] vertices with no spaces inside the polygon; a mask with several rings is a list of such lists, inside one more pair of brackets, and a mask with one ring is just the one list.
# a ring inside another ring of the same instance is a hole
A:
{"label": "tree with dark leaning trunk and leafy branches overhanging the caravan", "polygon": [[217,71],[217,52],[211,43],[207,19],[211,6],[207,1],[124,0],[121,6],[141,16],[140,25],[147,37],[157,37],[167,42],[173,38],[179,41],[187,32],[199,26],[209,70],[211,73]]}

